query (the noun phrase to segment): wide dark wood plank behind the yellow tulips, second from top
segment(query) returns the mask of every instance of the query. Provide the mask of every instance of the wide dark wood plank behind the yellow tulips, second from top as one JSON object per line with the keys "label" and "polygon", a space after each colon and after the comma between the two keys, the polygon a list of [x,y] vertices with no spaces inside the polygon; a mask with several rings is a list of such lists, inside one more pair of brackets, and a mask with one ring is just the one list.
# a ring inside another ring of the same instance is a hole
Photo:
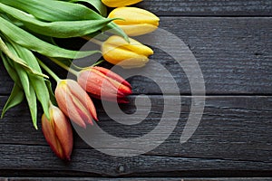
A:
{"label": "wide dark wood plank behind the yellow tulips, second from top", "polygon": [[[176,34],[189,46],[199,62],[207,94],[271,94],[271,24],[272,18],[164,17],[161,18],[160,27]],[[162,35],[150,40],[155,46],[159,40],[166,43],[171,41]],[[170,55],[156,49],[152,60],[160,62],[171,76],[161,73],[158,66],[151,64],[142,70],[153,72],[166,88],[166,93],[173,93],[168,81],[171,77],[177,81],[181,94],[190,93],[187,75]],[[2,62],[0,65],[0,94],[8,94],[13,82],[7,78]],[[160,93],[158,86],[150,79],[138,76],[130,81],[134,93]]]}

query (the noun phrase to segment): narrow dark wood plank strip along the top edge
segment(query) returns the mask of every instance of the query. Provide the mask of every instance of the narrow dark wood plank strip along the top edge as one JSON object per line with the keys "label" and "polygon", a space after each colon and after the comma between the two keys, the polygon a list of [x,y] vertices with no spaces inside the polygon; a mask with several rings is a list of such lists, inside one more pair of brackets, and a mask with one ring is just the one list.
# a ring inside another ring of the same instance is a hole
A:
{"label": "narrow dark wood plank strip along the top edge", "polygon": [[257,16],[272,14],[266,0],[153,0],[137,5],[159,15]]}

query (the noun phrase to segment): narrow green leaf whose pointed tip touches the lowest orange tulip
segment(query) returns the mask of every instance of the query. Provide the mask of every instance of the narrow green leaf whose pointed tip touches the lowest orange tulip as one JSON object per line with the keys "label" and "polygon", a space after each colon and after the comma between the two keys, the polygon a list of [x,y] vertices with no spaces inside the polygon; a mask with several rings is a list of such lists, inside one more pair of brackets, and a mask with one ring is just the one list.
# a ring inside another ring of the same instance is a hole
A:
{"label": "narrow green leaf whose pointed tip touches the lowest orange tulip", "polygon": [[[15,51],[18,53],[18,56],[25,60],[25,62],[31,68],[33,68],[35,71],[42,72],[39,63],[37,62],[32,52],[15,43],[13,43],[13,46],[15,47]],[[50,96],[44,78],[37,77],[32,74],[29,74],[28,78],[31,82],[32,87],[34,88],[37,99],[42,104],[45,116],[47,117],[47,119],[50,119],[49,116]]]}

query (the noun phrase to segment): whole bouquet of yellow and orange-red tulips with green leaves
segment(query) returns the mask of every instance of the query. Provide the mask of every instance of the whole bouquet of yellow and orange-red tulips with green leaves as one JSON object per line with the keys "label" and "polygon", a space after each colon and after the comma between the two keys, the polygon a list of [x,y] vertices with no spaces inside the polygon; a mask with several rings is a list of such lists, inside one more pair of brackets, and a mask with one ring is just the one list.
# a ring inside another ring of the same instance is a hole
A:
{"label": "whole bouquet of yellow and orange-red tulips with green leaves", "polygon": [[[130,83],[116,73],[97,64],[70,69],[71,60],[101,53],[105,61],[123,68],[144,66],[153,51],[129,36],[153,32],[160,19],[146,10],[127,6],[140,1],[0,0],[0,55],[15,82],[2,117],[25,98],[37,129],[39,101],[44,110],[45,139],[58,157],[70,160],[70,120],[86,128],[98,120],[91,98],[127,103],[126,96],[131,94]],[[107,14],[107,6],[116,8]],[[108,30],[111,33],[104,33]],[[92,39],[99,33],[107,38]],[[55,38],[72,37],[92,40],[101,45],[101,50],[73,51],[54,43]],[[76,81],[60,79],[39,59],[41,55],[71,71]],[[55,90],[49,76],[57,82]]]}

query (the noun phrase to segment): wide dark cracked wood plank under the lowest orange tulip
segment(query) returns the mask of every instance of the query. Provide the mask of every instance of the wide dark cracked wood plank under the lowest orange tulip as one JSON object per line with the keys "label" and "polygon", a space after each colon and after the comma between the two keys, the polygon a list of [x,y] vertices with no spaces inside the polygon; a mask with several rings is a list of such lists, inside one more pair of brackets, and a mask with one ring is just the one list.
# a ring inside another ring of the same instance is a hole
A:
{"label": "wide dark cracked wood plank under the lowest orange tulip", "polygon": [[[1,104],[6,99],[1,97]],[[175,96],[165,99],[177,100]],[[151,101],[149,117],[131,127],[109,119],[96,102],[99,125],[116,137],[141,137],[160,121],[164,106],[162,97],[151,96]],[[142,113],[148,111],[146,105],[139,106]],[[190,97],[182,97],[180,121],[170,138],[142,156],[107,156],[75,136],[73,160],[67,164],[53,155],[41,130],[33,129],[25,106],[19,106],[9,111],[0,123],[0,173],[39,169],[77,172],[77,176],[86,173],[99,176],[188,176],[186,173],[241,176],[245,172],[251,173],[250,176],[256,172],[268,176],[272,172],[272,97],[208,97],[199,128],[188,142],[181,145],[180,134],[188,119],[189,107]],[[122,109],[133,112],[135,107]],[[131,120],[134,117],[131,115]],[[168,119],[173,121],[174,118]]]}

